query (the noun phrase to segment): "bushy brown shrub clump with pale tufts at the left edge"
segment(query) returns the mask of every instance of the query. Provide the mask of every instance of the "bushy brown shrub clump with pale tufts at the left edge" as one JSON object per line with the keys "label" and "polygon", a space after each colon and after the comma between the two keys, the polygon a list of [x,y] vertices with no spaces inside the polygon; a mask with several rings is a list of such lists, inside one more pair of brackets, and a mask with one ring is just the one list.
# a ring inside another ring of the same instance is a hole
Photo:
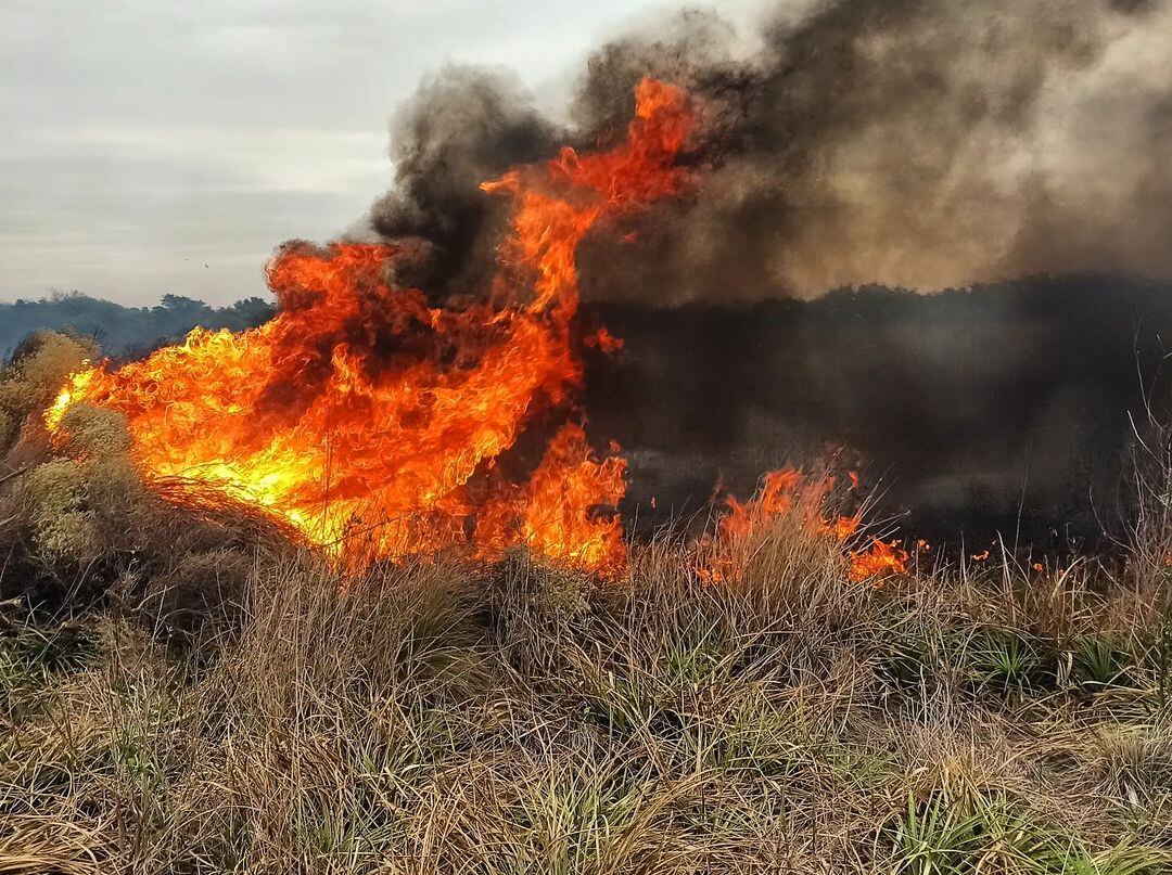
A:
{"label": "bushy brown shrub clump with pale tufts at the left edge", "polygon": [[154,628],[198,631],[238,610],[254,563],[291,552],[289,533],[192,484],[148,487],[114,411],[74,405],[50,438],[45,409],[95,355],[45,334],[0,375],[0,599],[40,614],[113,607]]}

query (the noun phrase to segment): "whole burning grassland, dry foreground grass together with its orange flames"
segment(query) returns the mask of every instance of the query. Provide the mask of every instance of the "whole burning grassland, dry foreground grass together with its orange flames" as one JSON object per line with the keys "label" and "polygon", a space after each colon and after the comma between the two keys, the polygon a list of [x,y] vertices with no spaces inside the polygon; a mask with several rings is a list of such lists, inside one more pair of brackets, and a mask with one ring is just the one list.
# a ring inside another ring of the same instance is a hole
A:
{"label": "whole burning grassland, dry foreground grass together with its orange flames", "polygon": [[295,245],[252,331],[26,346],[0,871],[1172,868],[1166,452],[1113,568],[920,570],[793,471],[624,539],[572,317],[587,231],[683,182],[686,97],[636,96],[612,150],[486,184],[483,300]]}

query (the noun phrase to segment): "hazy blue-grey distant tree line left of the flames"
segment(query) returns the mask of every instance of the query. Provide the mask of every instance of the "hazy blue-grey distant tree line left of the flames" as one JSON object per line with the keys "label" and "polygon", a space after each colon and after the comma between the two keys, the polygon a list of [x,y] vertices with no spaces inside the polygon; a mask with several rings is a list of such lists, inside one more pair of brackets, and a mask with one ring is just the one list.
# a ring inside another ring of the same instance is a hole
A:
{"label": "hazy blue-grey distant tree line left of the flames", "polygon": [[155,307],[124,307],[79,292],[0,303],[0,361],[7,360],[30,331],[68,330],[94,339],[107,355],[136,358],[180,340],[196,326],[240,331],[265,322],[273,313],[273,305],[261,298],[211,307],[171,294],[163,295]]}

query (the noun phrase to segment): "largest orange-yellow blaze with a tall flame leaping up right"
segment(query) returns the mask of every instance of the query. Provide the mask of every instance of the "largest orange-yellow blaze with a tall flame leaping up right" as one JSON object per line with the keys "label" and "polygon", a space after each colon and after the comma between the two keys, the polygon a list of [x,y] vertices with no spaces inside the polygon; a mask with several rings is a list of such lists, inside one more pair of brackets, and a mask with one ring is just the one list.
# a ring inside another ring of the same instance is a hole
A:
{"label": "largest orange-yellow blaze with a tall flame leaping up right", "polygon": [[[675,158],[693,127],[679,89],[645,80],[614,149],[563,149],[484,183],[513,211],[498,275],[478,296],[437,307],[396,286],[390,268],[406,253],[391,245],[289,244],[267,268],[273,320],[240,334],[196,329],[144,361],[75,374],[46,424],[57,431],[79,402],[117,410],[148,479],[222,490],[338,551],[492,558],[524,544],[616,574],[616,447],[599,460],[568,424],[529,477],[509,451],[572,408],[581,384],[579,242],[682,187]],[[605,333],[594,342],[619,346]]]}

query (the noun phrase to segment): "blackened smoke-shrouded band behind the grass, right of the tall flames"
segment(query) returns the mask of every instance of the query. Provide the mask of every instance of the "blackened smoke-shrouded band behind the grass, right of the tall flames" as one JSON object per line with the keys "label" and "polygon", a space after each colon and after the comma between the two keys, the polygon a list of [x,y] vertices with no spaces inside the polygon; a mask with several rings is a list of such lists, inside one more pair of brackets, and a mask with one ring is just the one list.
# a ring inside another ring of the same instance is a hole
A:
{"label": "blackened smoke-shrouded band behind the grass, right of the tall flames", "polygon": [[1149,405],[1167,413],[1168,282],[1035,276],[588,315],[625,340],[588,354],[584,408],[631,460],[624,517],[645,529],[703,521],[716,483],[745,498],[763,471],[837,453],[909,536],[1102,546],[1130,518],[1136,429]]}

